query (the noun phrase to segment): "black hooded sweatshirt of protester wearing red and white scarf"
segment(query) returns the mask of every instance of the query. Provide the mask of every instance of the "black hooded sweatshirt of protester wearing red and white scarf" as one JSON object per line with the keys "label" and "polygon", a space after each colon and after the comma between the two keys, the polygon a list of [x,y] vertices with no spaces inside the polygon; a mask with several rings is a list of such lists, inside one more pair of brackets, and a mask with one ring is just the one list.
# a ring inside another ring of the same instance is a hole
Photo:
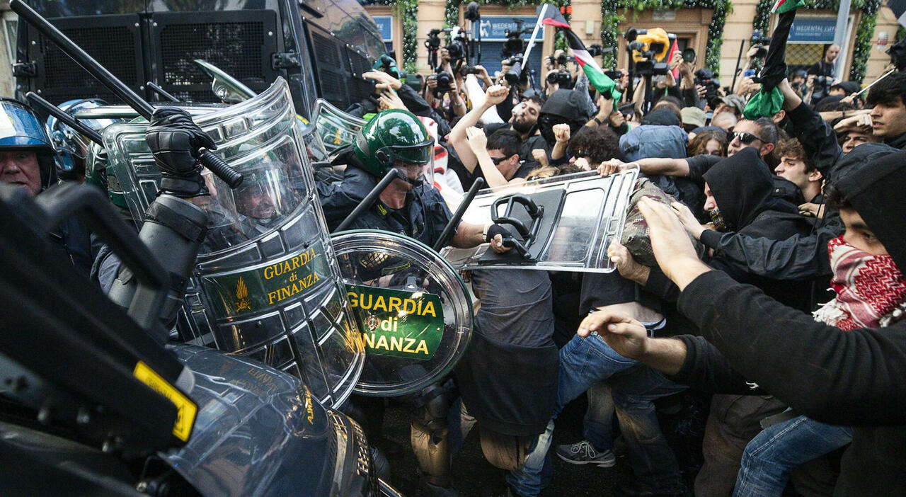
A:
{"label": "black hooded sweatshirt of protester wearing red and white scarf", "polygon": [[[837,186],[906,268],[906,151],[863,164]],[[679,337],[688,353],[675,379],[741,393],[745,378],[798,413],[852,425],[834,495],[906,495],[906,321],[843,331],[719,271],[692,281],[679,310],[709,343]]]}

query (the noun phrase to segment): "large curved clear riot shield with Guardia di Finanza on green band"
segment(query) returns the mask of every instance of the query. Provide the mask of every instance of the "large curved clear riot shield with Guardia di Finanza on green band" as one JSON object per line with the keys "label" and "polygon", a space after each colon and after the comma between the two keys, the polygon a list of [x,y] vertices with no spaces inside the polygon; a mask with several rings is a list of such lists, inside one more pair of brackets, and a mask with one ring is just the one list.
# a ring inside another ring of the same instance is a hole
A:
{"label": "large curved clear riot shield with Guardia di Finanza on green band", "polygon": [[[314,190],[304,137],[282,79],[208,112],[190,108],[217,151],[245,175],[230,190],[206,173],[208,233],[178,331],[188,343],[236,352],[300,376],[328,406],[352,393],[364,348]],[[103,132],[109,167],[140,225],[158,190],[146,123]]]}

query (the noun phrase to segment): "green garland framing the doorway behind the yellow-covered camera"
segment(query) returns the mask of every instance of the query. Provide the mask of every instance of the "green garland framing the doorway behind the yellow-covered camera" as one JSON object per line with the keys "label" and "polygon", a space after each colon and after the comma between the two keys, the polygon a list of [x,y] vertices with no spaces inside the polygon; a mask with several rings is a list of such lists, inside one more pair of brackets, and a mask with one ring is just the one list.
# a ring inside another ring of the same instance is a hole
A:
{"label": "green garland framing the doorway behind the yellow-covered camera", "polygon": [[621,36],[620,23],[624,20],[617,9],[631,10],[637,15],[642,10],[677,10],[679,8],[714,9],[708,26],[708,45],[705,51],[705,67],[714,73],[720,68],[720,49],[724,44],[724,23],[733,12],[730,0],[603,0],[601,3],[601,42],[614,51],[603,55],[605,67],[616,67],[618,40]]}

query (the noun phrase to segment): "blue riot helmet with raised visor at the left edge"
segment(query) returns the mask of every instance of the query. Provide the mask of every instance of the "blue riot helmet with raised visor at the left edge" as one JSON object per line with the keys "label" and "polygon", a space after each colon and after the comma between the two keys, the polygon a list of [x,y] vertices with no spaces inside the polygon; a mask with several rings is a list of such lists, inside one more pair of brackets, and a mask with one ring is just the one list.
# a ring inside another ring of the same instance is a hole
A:
{"label": "blue riot helmet with raised visor at the left edge", "polygon": [[23,102],[0,97],[0,151],[30,150],[38,157],[41,188],[56,182],[56,151],[34,110]]}

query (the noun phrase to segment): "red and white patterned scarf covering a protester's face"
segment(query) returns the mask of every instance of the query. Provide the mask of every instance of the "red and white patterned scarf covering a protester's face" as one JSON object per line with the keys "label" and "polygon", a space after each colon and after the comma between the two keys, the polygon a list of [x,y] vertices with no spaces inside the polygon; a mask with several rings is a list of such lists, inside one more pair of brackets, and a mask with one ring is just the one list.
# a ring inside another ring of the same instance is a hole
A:
{"label": "red and white patterned scarf covering a protester's face", "polygon": [[904,316],[906,279],[889,255],[872,256],[846,243],[827,243],[834,300],[814,311],[818,321],[843,330],[883,327]]}

